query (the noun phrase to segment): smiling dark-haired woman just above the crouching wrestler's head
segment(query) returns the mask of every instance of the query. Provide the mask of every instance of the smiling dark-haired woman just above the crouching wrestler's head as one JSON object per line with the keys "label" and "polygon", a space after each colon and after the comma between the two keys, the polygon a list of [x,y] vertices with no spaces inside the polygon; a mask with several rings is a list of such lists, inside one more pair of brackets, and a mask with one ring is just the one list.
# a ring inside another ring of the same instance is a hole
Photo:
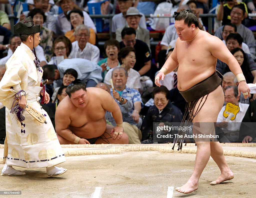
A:
{"label": "smiling dark-haired woman just above the crouching wrestler's head", "polygon": [[[73,80],[77,79],[77,71],[74,70],[74,69],[67,69],[65,72],[64,72],[64,76],[63,76],[63,79],[62,79],[62,85],[61,86],[68,86]],[[59,87],[55,88],[53,94],[52,94],[52,102],[56,102],[58,96],[58,91],[59,91]]]}

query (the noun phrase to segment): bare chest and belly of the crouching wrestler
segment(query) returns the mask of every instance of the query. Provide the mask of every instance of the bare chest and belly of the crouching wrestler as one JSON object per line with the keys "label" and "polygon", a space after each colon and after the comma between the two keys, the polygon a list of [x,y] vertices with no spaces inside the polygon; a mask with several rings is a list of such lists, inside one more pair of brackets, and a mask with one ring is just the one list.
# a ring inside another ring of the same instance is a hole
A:
{"label": "bare chest and belly of the crouching wrestler", "polygon": [[95,88],[87,88],[86,94],[89,100],[83,108],[74,106],[68,96],[61,101],[59,106],[66,107],[60,111],[66,112],[70,121],[67,127],[78,137],[88,139],[99,137],[105,132],[106,119],[104,115],[106,111],[102,107],[101,97]]}

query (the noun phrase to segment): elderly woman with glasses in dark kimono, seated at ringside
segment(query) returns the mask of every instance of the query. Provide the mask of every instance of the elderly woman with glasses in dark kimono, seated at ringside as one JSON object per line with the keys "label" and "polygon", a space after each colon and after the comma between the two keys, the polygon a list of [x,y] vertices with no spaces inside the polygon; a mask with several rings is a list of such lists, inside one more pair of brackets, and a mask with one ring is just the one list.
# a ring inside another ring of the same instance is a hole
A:
{"label": "elderly woman with glasses in dark kimono, seated at ringside", "polygon": [[153,143],[153,122],[181,122],[182,112],[169,101],[169,90],[156,87],[152,93],[155,104],[151,106],[142,122],[142,144]]}

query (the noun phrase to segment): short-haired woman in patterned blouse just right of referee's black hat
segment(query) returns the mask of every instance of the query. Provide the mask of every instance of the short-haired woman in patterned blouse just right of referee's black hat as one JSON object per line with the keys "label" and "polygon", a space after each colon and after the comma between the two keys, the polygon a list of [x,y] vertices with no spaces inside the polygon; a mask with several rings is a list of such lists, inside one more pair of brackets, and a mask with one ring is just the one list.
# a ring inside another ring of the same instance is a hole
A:
{"label": "short-haired woman in patterned blouse just right of referee's black hat", "polygon": [[28,13],[28,17],[32,17],[36,25],[40,25],[40,46],[44,49],[45,58],[50,61],[52,56],[52,31],[43,26],[46,21],[46,16],[43,10],[39,8],[34,8]]}

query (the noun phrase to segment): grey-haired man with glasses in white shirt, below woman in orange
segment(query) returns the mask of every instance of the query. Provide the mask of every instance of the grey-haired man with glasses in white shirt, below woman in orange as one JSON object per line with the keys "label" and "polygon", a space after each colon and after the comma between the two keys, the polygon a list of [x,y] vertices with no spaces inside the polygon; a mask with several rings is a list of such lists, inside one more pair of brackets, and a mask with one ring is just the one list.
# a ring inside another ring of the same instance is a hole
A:
{"label": "grey-haired man with glasses in white shirt, below woman in orange", "polygon": [[100,49],[89,43],[90,30],[85,25],[79,25],[74,32],[76,41],[72,43],[72,50],[69,55],[70,59],[81,58],[87,59],[94,63],[100,60]]}

